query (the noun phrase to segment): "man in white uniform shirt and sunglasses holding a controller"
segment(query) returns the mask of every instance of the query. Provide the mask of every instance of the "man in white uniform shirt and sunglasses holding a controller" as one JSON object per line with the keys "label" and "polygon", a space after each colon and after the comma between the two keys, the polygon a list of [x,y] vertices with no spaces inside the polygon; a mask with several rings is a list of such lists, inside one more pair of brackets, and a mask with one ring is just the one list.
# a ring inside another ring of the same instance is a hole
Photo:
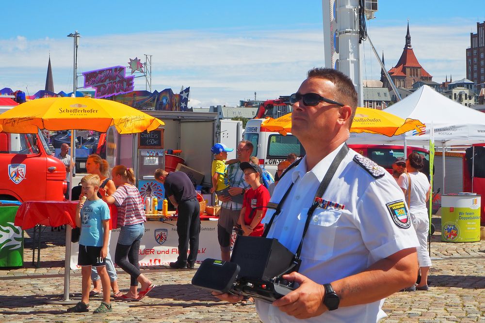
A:
{"label": "man in white uniform shirt and sunglasses holding a controller", "polygon": [[[307,154],[275,188],[271,201],[279,203],[293,183],[267,237],[295,252],[317,188],[349,138],[357,94],[342,73],[315,68],[290,102],[291,132]],[[322,198],[310,215],[300,269],[283,276],[297,288],[273,304],[258,301],[263,322],[378,322],[385,297],[416,281],[416,233],[404,195],[385,169],[349,150]],[[266,216],[274,213],[268,209]]]}

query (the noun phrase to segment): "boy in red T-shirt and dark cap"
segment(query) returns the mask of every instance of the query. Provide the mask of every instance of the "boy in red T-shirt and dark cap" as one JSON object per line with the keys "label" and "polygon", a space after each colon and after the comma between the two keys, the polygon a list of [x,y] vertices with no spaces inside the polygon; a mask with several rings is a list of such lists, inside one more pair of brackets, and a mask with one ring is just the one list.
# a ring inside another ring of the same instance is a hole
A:
{"label": "boy in red T-shirt and dark cap", "polygon": [[243,235],[260,237],[264,231],[261,219],[266,214],[270,193],[264,185],[261,185],[262,169],[258,165],[243,162],[240,167],[244,171],[244,180],[251,185],[251,188],[244,193],[239,222]]}

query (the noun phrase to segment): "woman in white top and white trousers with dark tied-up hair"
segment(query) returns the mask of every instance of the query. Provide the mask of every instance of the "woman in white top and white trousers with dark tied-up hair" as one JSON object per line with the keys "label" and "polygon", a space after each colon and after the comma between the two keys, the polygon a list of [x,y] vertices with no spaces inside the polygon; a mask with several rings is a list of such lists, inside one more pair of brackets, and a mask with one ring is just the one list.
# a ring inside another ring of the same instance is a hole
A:
{"label": "woman in white top and white trousers with dark tied-up hair", "polygon": [[[419,291],[428,290],[428,272],[431,259],[428,254],[429,217],[426,202],[429,199],[430,185],[428,177],[419,170],[423,167],[423,158],[418,153],[411,153],[406,159],[407,173],[399,177],[399,187],[402,188],[414,229],[418,235],[418,262],[421,270],[421,280],[416,286]],[[409,290],[409,289],[408,289]],[[414,288],[411,287],[411,290]]]}

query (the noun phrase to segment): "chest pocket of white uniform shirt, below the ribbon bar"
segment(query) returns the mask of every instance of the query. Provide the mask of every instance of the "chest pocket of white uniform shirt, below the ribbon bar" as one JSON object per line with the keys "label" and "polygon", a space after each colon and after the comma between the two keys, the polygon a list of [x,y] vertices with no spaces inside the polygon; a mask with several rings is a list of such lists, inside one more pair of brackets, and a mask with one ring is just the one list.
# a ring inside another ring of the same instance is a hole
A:
{"label": "chest pocket of white uniform shirt, below the ribbon bar", "polygon": [[303,243],[302,257],[324,261],[332,257],[335,232],[341,211],[317,208],[310,218]]}

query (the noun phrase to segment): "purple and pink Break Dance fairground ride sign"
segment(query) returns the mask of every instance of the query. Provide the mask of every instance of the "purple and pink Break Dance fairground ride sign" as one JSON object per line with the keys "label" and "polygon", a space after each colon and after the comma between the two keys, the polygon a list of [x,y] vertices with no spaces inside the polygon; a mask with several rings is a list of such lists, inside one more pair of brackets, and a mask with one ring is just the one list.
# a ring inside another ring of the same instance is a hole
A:
{"label": "purple and pink Break Dance fairground ride sign", "polygon": [[95,98],[133,92],[134,76],[126,76],[126,67],[113,66],[101,70],[83,72],[84,88],[94,88]]}

